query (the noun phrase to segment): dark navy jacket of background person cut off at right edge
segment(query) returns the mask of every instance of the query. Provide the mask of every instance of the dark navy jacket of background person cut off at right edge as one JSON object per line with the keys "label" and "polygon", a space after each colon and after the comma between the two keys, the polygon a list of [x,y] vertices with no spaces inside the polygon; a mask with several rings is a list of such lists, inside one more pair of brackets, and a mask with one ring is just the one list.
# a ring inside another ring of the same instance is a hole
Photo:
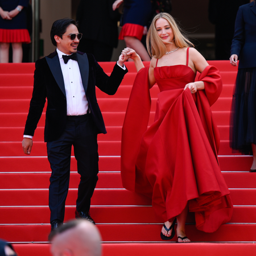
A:
{"label": "dark navy jacket of background person cut off at right edge", "polygon": [[231,55],[239,59],[238,68],[256,67],[256,3],[238,9]]}

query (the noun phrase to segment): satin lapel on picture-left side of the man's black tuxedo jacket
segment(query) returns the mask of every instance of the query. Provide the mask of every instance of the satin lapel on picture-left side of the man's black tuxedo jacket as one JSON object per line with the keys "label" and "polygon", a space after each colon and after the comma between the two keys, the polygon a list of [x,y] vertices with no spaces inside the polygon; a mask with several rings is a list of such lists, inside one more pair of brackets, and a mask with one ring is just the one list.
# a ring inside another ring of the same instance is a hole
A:
{"label": "satin lapel on picture-left side of the man's black tuxedo jacket", "polygon": [[61,92],[63,92],[63,94],[66,96],[64,79],[63,79],[63,75],[60,67],[59,56],[57,54],[52,58],[47,56],[46,61],[49,65],[49,68],[51,69],[51,72],[55,81],[57,82],[57,85],[59,85]]}

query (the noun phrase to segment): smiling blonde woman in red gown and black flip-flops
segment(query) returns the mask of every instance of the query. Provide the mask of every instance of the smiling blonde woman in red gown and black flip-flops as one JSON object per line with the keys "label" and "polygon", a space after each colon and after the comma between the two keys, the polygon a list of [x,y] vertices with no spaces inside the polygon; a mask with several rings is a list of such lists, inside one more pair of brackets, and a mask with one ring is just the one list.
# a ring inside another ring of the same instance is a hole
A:
{"label": "smiling blonde woman in red gown and black flip-flops", "polygon": [[[220,137],[210,106],[220,96],[218,69],[208,65],[181,34],[171,15],[160,13],[147,34],[149,67],[130,48],[135,78],[122,130],[123,187],[152,199],[163,240],[185,234],[187,213],[195,212],[196,228],[214,232],[232,216],[229,189],[218,163]],[[196,72],[200,72],[195,81]],[[148,127],[149,89],[158,85],[155,121]]]}

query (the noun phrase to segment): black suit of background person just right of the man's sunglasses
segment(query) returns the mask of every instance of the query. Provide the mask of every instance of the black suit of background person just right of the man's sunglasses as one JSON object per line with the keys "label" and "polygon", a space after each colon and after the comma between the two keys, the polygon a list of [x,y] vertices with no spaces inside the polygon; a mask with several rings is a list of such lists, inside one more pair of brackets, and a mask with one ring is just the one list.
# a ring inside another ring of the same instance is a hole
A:
{"label": "black suit of background person just right of the man's sunglasses", "polygon": [[81,0],[76,14],[82,33],[80,44],[83,39],[90,39],[117,47],[120,14],[118,10],[113,11],[113,3],[114,0]]}

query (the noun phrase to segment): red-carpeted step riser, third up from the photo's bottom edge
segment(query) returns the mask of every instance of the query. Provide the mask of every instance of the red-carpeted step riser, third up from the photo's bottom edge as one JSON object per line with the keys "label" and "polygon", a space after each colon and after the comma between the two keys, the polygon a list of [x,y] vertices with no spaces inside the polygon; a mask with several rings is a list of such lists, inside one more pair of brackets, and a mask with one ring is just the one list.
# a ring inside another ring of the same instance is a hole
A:
{"label": "red-carpeted step riser, third up from the photo's bottom edge", "polygon": [[[75,218],[75,207],[65,208],[64,222]],[[133,207],[91,207],[90,214],[96,224],[106,223],[161,223],[156,220],[151,206]],[[251,224],[255,222],[256,207],[234,207],[229,224]],[[49,224],[50,210],[48,207],[2,207],[0,210],[1,224]],[[195,224],[195,214],[188,213],[188,224]]]}

